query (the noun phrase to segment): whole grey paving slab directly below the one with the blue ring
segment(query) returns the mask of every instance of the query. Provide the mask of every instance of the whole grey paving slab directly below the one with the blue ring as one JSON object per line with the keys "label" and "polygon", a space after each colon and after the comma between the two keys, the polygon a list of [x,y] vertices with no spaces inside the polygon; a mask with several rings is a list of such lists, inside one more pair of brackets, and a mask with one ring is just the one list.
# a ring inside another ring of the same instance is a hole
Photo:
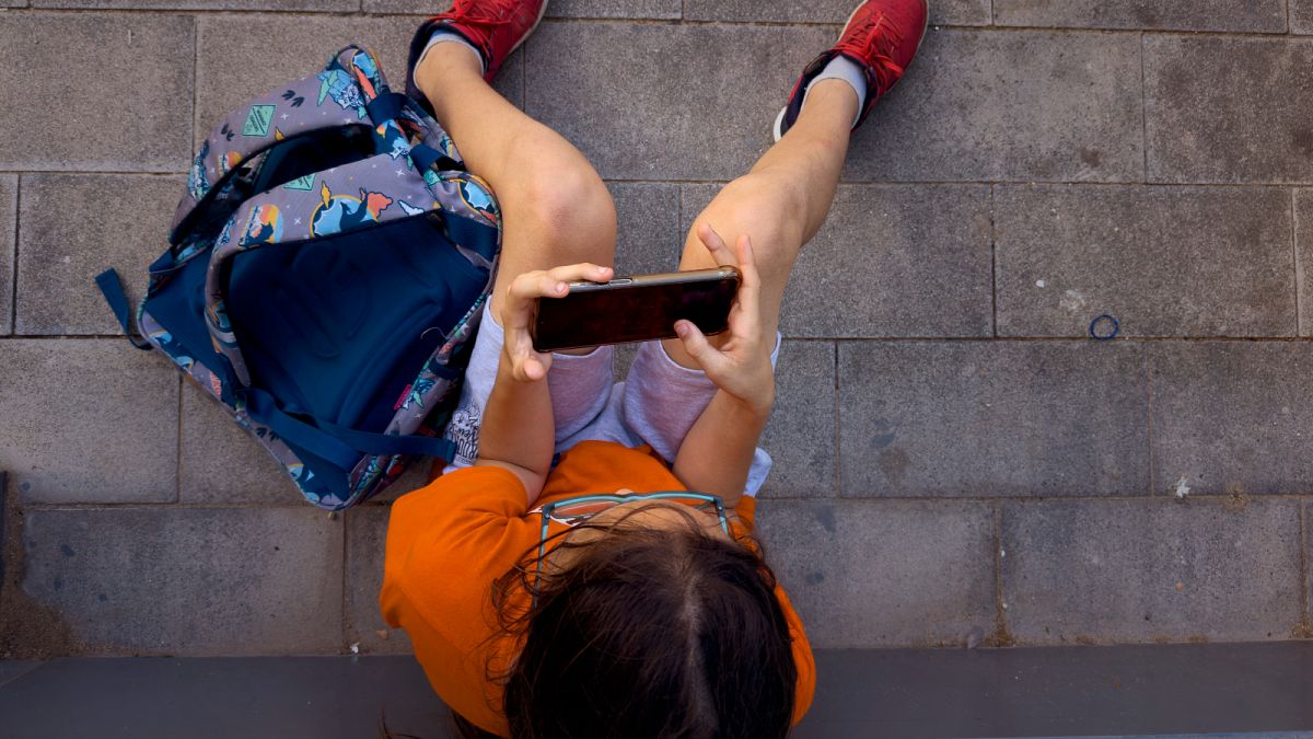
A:
{"label": "whole grey paving slab directly below the one with the blue ring", "polygon": [[1127,343],[842,343],[842,494],[1145,494],[1144,372]]}

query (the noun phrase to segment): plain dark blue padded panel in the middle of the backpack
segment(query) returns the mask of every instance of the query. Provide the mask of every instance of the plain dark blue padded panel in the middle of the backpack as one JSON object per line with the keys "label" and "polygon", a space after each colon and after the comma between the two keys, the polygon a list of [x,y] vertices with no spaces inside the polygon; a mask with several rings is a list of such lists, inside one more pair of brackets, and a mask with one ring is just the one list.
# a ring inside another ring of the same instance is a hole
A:
{"label": "plain dark blue padded panel in the middle of the backpack", "polygon": [[289,412],[381,433],[484,280],[441,221],[416,216],[236,254],[227,309],[253,385]]}

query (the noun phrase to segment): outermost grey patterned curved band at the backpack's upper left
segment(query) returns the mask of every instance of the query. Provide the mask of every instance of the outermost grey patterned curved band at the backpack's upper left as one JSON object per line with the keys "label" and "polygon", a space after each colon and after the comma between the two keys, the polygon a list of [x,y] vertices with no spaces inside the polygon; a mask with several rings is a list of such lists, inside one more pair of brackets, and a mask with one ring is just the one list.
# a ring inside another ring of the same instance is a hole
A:
{"label": "outermost grey patterned curved band at the backpack's upper left", "polygon": [[210,131],[192,160],[169,242],[183,242],[243,163],[278,142],[323,129],[374,129],[366,108],[387,92],[378,57],[364,46],[337,51],[324,70],[252,100]]}

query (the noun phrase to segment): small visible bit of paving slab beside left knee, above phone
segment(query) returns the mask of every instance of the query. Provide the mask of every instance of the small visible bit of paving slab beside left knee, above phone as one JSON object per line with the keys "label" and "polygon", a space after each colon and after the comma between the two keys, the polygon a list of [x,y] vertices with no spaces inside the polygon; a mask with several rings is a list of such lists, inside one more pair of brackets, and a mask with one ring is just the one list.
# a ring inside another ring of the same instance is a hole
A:
{"label": "small visible bit of paving slab beside left knee, above phone", "polygon": [[607,183],[616,201],[616,274],[674,272],[684,250],[679,185]]}

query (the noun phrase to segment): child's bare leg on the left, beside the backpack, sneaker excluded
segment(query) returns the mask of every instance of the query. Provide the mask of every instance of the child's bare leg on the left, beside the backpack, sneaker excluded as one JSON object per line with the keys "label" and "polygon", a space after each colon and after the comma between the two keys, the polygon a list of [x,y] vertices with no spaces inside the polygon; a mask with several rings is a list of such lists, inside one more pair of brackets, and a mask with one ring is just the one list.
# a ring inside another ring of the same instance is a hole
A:
{"label": "child's bare leg on the left, beside the backpack, sneaker excluded", "polygon": [[524,272],[614,263],[616,206],[601,178],[570,142],[488,87],[469,49],[436,45],[415,71],[415,82],[470,171],[492,185],[500,203],[502,264],[494,308]]}

